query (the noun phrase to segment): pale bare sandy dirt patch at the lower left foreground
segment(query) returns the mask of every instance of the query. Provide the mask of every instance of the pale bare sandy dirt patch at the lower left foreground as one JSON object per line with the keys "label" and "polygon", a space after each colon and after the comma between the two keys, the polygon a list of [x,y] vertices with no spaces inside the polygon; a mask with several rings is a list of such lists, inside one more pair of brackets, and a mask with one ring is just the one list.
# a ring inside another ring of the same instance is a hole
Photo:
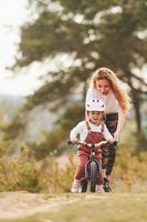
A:
{"label": "pale bare sandy dirt patch at the lower left foreground", "polygon": [[78,198],[50,196],[25,192],[0,193],[0,220],[18,219],[49,210],[57,211],[57,206],[77,201]]}

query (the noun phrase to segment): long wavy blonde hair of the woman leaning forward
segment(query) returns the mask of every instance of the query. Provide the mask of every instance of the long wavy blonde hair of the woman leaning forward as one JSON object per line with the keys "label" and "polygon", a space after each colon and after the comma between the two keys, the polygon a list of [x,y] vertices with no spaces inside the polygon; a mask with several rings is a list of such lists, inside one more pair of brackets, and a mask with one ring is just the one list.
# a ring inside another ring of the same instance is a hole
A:
{"label": "long wavy blonde hair of the woman leaning forward", "polygon": [[126,113],[130,108],[130,98],[127,92],[122,89],[120,82],[116,74],[108,68],[99,68],[92,75],[91,87],[96,89],[96,81],[102,79],[109,81],[115,98],[118,100],[123,112]]}

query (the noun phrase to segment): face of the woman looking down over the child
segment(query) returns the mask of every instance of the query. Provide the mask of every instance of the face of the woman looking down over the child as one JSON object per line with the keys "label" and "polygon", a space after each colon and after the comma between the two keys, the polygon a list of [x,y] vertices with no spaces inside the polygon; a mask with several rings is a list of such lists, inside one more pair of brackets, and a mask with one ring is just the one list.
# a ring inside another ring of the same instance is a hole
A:
{"label": "face of the woman looking down over the child", "polygon": [[107,95],[111,90],[111,82],[107,79],[96,81],[96,90],[103,95]]}

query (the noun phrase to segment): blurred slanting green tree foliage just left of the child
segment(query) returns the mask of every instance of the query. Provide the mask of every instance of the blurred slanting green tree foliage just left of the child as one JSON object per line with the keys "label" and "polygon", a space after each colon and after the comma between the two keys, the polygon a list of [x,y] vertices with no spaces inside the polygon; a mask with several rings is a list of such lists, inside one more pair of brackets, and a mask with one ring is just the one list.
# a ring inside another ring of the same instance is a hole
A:
{"label": "blurred slanting green tree foliage just left of the child", "polygon": [[[28,143],[30,147],[30,153],[36,159],[42,160],[46,155],[55,154],[60,155],[65,149],[67,149],[69,130],[77,122],[77,117],[84,119],[83,104],[75,103],[69,107],[61,119],[57,119],[53,130],[44,133],[44,140],[42,142]],[[72,118],[71,118],[72,117]]]}

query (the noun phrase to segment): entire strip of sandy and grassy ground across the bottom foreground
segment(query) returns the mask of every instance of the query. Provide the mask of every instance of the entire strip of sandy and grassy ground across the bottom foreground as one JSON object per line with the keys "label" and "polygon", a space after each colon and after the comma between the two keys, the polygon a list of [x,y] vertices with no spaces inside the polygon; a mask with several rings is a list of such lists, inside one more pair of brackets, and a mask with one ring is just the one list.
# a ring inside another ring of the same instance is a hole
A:
{"label": "entire strip of sandy and grassy ground across the bottom foreground", "polygon": [[[0,222],[147,221],[147,193],[0,193]],[[83,213],[84,210],[84,213]],[[115,212],[115,213],[114,213]],[[30,216],[30,218],[28,218]],[[18,220],[17,220],[18,219]]]}

